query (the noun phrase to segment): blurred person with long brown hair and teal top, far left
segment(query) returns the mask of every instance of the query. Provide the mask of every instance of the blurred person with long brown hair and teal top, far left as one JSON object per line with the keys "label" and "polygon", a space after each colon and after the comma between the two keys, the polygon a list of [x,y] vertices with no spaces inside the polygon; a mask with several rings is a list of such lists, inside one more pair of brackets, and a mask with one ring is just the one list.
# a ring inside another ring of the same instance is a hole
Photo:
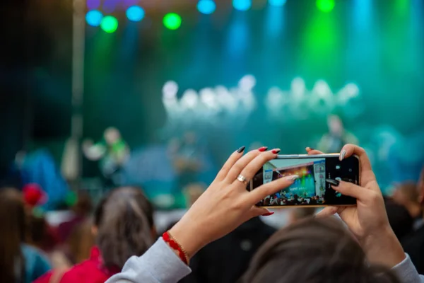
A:
{"label": "blurred person with long brown hair and teal top, far left", "polygon": [[28,243],[23,195],[0,190],[0,282],[33,282],[50,269],[47,257]]}

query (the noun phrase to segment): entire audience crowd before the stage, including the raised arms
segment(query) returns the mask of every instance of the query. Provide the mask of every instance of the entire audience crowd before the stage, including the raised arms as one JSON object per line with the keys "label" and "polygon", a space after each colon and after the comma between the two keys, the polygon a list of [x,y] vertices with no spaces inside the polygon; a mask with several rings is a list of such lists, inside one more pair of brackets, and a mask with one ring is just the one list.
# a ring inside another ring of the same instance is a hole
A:
{"label": "entire audience crowd before the stage, including the raised arms", "polygon": [[424,282],[424,171],[383,197],[365,151],[343,150],[359,156],[361,184],[333,188],[357,205],[291,209],[278,231],[258,217],[273,212],[255,204],[295,176],[251,192],[246,182],[279,149],[235,151],[166,231],[157,231],[140,187],[117,187],[95,209],[78,192],[71,219],[55,227],[25,192],[3,188],[0,282]]}

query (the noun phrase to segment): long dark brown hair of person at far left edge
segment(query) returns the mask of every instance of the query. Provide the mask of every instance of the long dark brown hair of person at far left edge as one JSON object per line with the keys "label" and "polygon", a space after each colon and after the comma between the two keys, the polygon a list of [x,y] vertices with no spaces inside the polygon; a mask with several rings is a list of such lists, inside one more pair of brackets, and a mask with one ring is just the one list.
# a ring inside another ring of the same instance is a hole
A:
{"label": "long dark brown hair of person at far left edge", "polygon": [[[25,242],[25,206],[20,192],[0,189],[0,282],[24,282],[25,258],[20,245]],[[16,278],[16,267],[19,278]]]}

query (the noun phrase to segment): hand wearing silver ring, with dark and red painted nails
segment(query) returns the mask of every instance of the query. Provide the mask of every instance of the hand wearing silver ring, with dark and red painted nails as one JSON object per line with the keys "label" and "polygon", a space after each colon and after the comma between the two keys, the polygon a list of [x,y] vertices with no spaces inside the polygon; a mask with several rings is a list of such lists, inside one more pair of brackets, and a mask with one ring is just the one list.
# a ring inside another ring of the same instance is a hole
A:
{"label": "hand wearing silver ring, with dark and red painted nails", "polygon": [[[242,151],[241,148],[239,151]],[[235,151],[216,176],[213,183],[192,205],[182,219],[170,229],[192,257],[211,241],[225,236],[243,222],[259,215],[271,215],[267,209],[256,207],[259,200],[293,184],[298,176],[280,178],[261,185],[252,192],[246,190],[246,183],[237,180],[243,175],[251,180],[264,163],[276,158],[279,149],[266,148],[249,151],[245,156]]]}

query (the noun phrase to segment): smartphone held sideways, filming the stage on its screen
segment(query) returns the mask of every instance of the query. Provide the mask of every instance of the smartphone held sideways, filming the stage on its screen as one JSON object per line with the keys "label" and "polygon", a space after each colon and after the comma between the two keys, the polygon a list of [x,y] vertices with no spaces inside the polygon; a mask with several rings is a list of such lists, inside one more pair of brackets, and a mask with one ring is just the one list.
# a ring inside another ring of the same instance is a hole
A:
{"label": "smartphone held sideways, filming the stage on its screen", "polygon": [[247,190],[288,175],[298,175],[293,185],[265,197],[259,207],[324,207],[355,205],[356,199],[331,187],[334,180],[360,185],[358,156],[338,159],[339,154],[280,155],[267,162],[247,184]]}

